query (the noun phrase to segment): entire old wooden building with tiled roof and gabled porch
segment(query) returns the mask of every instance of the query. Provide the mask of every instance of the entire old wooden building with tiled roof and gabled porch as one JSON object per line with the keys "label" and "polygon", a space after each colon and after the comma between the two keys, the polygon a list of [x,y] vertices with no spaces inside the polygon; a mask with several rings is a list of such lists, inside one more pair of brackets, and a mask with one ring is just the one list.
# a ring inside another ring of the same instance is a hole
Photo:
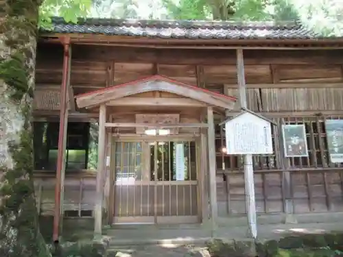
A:
{"label": "entire old wooden building with tiled roof and gabled porch", "polygon": [[343,39],[286,23],[53,23],[38,42],[34,178],[55,228],[244,215],[242,158],[218,125],[241,92],[276,123],[274,154],[253,156],[258,221],[343,213]]}

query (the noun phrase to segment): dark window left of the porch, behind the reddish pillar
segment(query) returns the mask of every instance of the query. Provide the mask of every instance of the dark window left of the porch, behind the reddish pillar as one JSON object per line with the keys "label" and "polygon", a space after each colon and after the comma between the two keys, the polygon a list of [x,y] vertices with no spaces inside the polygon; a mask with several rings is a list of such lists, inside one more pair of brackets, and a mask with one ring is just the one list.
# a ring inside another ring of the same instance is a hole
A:
{"label": "dark window left of the porch, behind the reddish pillar", "polygon": [[[59,123],[34,123],[34,164],[36,170],[56,171],[58,155]],[[90,127],[92,129],[90,129]],[[90,123],[68,123],[66,169],[87,169],[88,165],[96,168],[97,132]],[[95,158],[94,158],[95,156]],[[89,158],[91,157],[91,158]],[[88,164],[88,160],[91,163]]]}

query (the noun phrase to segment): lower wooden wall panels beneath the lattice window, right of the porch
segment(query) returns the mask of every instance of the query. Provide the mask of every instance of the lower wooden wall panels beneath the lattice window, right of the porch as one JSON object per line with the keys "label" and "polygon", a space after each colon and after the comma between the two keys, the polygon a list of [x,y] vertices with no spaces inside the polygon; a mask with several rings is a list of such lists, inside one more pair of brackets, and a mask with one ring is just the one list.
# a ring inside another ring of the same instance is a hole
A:
{"label": "lower wooden wall panels beneath the lattice window, right of the porch", "polygon": [[[342,212],[342,171],[291,171],[292,201],[295,214]],[[256,208],[259,214],[285,212],[286,188],[282,172],[255,171]],[[217,175],[218,215],[246,213],[244,175]]]}

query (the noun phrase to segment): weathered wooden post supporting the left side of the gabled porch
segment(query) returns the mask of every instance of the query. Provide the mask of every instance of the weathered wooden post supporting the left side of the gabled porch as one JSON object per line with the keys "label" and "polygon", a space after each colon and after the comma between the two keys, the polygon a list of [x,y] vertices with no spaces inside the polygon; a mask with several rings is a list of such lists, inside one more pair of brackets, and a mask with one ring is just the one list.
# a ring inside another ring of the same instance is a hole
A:
{"label": "weathered wooden post supporting the left side of the gabled porch", "polygon": [[106,105],[99,109],[99,141],[97,143],[97,197],[95,202],[95,236],[102,234],[102,199],[104,197],[104,171],[106,147]]}

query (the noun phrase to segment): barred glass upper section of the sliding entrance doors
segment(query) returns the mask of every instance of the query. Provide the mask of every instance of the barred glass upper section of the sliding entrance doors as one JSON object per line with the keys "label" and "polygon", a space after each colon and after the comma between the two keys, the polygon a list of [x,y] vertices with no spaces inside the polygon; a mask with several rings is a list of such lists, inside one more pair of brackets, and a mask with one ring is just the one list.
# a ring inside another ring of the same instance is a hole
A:
{"label": "barred glass upper section of the sliding entrance doors", "polygon": [[196,180],[196,143],[116,142],[115,175],[120,184]]}

